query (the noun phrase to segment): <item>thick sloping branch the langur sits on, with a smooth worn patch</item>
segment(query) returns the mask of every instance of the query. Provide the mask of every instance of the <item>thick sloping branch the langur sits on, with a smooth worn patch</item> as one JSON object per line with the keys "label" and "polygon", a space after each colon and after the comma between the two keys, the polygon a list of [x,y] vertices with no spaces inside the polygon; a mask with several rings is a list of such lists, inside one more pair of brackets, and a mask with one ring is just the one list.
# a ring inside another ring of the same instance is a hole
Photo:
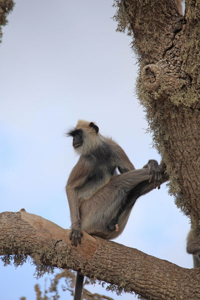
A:
{"label": "thick sloping branch the langur sits on, with a smooth worn patch", "polygon": [[71,268],[146,299],[199,299],[200,269],[185,269],[84,232],[71,246],[69,230],[38,215],[0,213],[0,255],[27,254],[37,263]]}

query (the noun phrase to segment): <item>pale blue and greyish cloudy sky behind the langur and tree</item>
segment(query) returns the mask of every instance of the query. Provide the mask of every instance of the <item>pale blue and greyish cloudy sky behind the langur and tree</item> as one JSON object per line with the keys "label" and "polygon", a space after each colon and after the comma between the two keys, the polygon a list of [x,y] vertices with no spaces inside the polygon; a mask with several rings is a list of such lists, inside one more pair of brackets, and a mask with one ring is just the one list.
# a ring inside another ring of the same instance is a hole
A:
{"label": "pale blue and greyish cloudy sky behind the langur and tree", "polygon": [[[112,0],[16,0],[0,45],[0,211],[24,207],[69,228],[64,186],[77,156],[63,132],[78,118],[94,120],[136,168],[149,158],[160,160],[134,94],[131,40],[115,32],[111,5]],[[192,267],[185,252],[188,230],[189,220],[162,185],[136,202],[116,241]],[[34,284],[43,288],[48,276],[37,281],[33,272],[28,263],[17,269],[0,264],[1,298],[34,300]],[[106,293],[98,285],[94,290]]]}

